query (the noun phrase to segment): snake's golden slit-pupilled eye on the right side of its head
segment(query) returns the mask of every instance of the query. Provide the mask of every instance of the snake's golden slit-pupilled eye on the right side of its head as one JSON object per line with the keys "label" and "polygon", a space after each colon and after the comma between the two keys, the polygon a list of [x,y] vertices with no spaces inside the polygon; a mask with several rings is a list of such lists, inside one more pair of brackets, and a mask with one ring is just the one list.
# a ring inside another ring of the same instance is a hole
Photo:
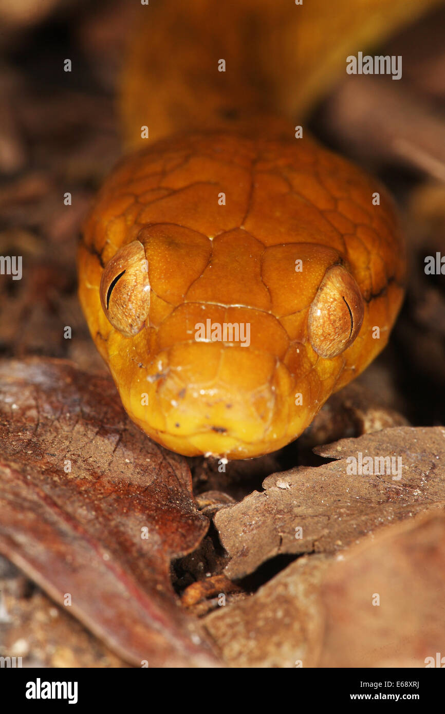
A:
{"label": "snake's golden slit-pupilled eye on the right side of its head", "polygon": [[359,334],[364,316],[360,288],[346,268],[326,271],[309,310],[309,340],[321,357],[336,357]]}

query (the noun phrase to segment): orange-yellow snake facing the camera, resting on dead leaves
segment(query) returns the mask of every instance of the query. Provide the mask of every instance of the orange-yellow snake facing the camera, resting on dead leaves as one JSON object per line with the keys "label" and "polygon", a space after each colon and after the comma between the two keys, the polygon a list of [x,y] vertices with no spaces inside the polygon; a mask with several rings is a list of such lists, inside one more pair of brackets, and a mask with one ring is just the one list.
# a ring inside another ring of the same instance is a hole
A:
{"label": "orange-yellow snake facing the camera, resting on dead leaves", "polygon": [[[134,41],[126,86],[158,114],[86,218],[79,299],[151,439],[184,456],[253,458],[297,438],[384,348],[404,297],[404,236],[374,176],[264,106],[241,71],[241,20],[199,0],[183,22],[176,11],[174,69],[161,55],[171,15],[160,9]],[[219,72],[232,56],[241,69]]]}

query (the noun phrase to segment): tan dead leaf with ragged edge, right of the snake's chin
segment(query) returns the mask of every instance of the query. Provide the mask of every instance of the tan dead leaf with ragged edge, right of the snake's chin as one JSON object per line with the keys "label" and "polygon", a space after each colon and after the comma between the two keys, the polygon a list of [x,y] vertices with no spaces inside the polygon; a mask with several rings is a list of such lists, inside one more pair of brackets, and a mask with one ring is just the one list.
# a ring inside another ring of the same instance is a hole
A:
{"label": "tan dead leaf with ragged edge, right of the snake's chin", "polygon": [[[336,461],[271,474],[262,493],[216,513],[231,555],[228,578],[243,578],[282,553],[334,553],[376,528],[445,503],[445,428],[384,429],[314,451]],[[400,480],[396,470],[349,475],[347,458],[358,460],[359,453],[374,465],[375,458],[392,456],[396,468],[400,458]],[[289,488],[279,487],[284,481]]]}

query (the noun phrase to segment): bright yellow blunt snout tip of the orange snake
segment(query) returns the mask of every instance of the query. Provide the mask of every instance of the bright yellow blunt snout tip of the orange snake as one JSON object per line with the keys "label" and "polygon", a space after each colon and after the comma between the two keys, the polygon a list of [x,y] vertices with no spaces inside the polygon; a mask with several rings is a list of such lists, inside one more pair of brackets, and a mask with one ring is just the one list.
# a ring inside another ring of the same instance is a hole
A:
{"label": "bright yellow blunt snout tip of the orange snake", "polygon": [[276,410],[276,364],[270,358],[265,366],[263,359],[214,343],[174,348],[156,390],[166,432],[187,438],[202,453],[223,456],[261,442]]}

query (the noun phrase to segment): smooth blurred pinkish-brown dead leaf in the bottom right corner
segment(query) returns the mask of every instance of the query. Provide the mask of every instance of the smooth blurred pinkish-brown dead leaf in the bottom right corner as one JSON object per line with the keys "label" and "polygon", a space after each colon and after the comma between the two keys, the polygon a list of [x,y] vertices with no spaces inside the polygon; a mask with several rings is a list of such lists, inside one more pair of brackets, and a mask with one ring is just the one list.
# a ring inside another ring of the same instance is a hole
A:
{"label": "smooth blurred pinkish-brown dead leaf in the bottom right corner", "polygon": [[445,653],[444,514],[367,539],[334,563],[322,597],[319,666],[425,667],[428,657],[437,666],[436,653]]}

